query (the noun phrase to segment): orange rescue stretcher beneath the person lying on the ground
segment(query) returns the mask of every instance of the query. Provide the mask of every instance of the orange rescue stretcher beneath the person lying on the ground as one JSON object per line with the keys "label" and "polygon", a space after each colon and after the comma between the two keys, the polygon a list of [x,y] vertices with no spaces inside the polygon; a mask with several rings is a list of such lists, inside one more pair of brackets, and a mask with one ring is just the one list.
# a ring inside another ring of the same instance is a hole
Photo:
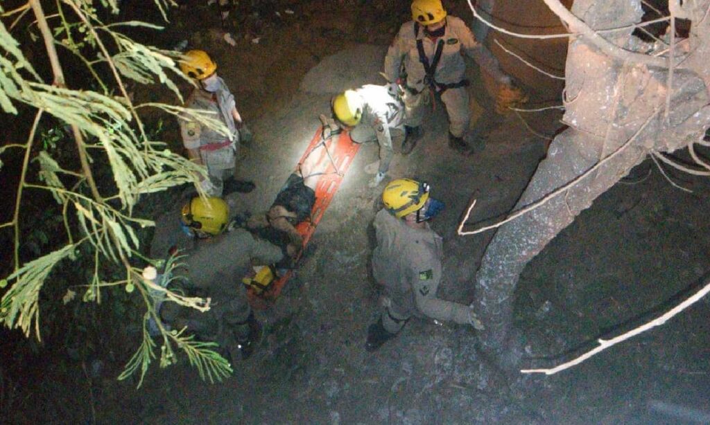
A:
{"label": "orange rescue stretcher beneath the person lying on the ground", "polygon": [[[332,142],[327,147],[325,142],[330,139],[332,139]],[[315,187],[315,203],[311,209],[310,219],[296,225],[297,232],[303,237],[302,249],[300,254],[298,254],[298,258],[294,261],[296,265],[300,262],[300,256],[305,251],[305,247],[323,217],[323,213],[330,205],[330,201],[338,191],[355,154],[360,149],[360,145],[351,140],[348,132],[332,130],[322,125],[316,130],[298,164],[302,164],[320,146],[324,147],[322,152],[319,152],[322,156],[320,160],[329,162],[329,166],[322,171],[322,176]],[[280,274],[280,276],[277,276],[273,266],[266,266],[244,278],[243,282],[246,285],[249,302],[252,307],[263,310],[271,305],[294,273],[295,268],[290,268]]]}

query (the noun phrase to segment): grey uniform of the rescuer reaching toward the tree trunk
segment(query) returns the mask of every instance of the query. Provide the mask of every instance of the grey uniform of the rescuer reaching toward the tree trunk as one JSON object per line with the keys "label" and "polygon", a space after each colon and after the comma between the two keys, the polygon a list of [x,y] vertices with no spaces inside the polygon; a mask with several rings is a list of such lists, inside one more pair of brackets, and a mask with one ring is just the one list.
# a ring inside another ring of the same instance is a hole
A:
{"label": "grey uniform of the rescuer reaching toward the tree trunk", "polygon": [[467,305],[436,295],[442,278],[442,237],[428,224],[424,229],[410,227],[385,209],[375,216],[374,227],[377,246],[372,271],[386,294],[385,329],[395,334],[413,315],[468,324],[471,309]]}

